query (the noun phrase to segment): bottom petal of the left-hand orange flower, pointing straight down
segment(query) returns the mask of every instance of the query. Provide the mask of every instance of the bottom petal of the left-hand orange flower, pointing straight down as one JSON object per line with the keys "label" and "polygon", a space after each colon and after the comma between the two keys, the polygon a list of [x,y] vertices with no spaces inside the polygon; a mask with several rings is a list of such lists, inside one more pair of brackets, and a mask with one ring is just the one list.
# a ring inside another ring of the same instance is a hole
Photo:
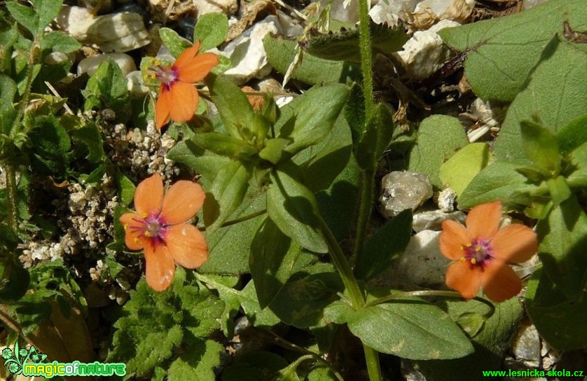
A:
{"label": "bottom petal of the left-hand orange flower, pointing straight down", "polygon": [[170,286],[175,274],[175,263],[164,244],[145,246],[146,281],[151,289],[164,291]]}

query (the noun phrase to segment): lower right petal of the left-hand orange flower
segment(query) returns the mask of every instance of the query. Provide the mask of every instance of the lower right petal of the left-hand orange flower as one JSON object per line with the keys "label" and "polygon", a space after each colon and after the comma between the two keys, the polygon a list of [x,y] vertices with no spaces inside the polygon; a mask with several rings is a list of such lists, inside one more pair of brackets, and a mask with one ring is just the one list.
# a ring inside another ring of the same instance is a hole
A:
{"label": "lower right petal of the left-hand orange flower", "polygon": [[184,268],[199,268],[208,259],[208,244],[204,235],[188,223],[170,227],[165,243],[174,260]]}

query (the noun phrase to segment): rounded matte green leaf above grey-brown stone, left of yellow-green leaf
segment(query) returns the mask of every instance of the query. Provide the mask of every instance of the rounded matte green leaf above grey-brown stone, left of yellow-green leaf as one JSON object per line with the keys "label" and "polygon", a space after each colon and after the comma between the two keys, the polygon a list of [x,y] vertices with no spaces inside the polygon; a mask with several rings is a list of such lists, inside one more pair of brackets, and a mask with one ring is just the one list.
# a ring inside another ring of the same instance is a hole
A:
{"label": "rounded matte green leaf above grey-brown stone, left of yellow-green leaf", "polygon": [[440,167],[459,148],[469,144],[467,134],[457,118],[433,115],[422,120],[417,141],[410,152],[408,169],[426,174],[437,189],[443,189],[438,176]]}

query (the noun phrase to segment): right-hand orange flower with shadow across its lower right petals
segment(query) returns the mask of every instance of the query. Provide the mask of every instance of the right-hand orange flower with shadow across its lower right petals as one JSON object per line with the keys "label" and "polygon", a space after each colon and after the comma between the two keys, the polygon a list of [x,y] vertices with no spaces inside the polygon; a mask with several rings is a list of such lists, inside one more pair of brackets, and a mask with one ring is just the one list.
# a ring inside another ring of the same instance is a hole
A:
{"label": "right-hand orange flower with shadow across its lower right petals", "polygon": [[480,288],[491,300],[502,302],[518,295],[522,282],[508,263],[524,262],[538,250],[536,233],[519,223],[499,230],[502,203],[474,207],[467,228],[456,221],[443,221],[440,249],[458,261],[446,272],[446,284],[463,298],[473,298]]}

